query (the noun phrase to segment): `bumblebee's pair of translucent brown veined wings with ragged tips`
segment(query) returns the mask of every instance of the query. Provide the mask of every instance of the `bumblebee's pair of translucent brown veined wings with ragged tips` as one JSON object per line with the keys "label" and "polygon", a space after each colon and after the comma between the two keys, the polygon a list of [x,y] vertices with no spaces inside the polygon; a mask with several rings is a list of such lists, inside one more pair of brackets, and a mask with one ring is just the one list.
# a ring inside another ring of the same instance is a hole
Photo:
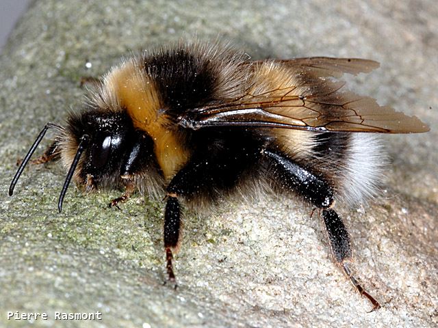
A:
{"label": "bumblebee's pair of translucent brown veined wings with ragged tips", "polygon": [[329,57],[248,61],[242,96],[196,108],[179,124],[194,130],[208,126],[257,126],[307,131],[420,133],[428,126],[381,107],[368,96],[342,91],[344,73],[378,67],[376,61]]}

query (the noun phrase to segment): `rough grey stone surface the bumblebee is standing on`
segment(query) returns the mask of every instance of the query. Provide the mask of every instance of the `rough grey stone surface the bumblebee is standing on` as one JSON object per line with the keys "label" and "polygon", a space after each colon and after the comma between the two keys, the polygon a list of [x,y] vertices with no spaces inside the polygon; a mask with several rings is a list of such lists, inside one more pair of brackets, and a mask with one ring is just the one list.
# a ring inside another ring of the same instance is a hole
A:
{"label": "rough grey stone surface the bumblebee is standing on", "polygon": [[[27,327],[6,319],[19,311],[48,312],[34,327],[436,327],[437,17],[435,0],[36,1],[0,57],[0,325]],[[175,291],[162,286],[162,202],[136,196],[118,211],[105,206],[119,191],[71,188],[58,214],[65,172],[56,164],[29,166],[7,196],[40,128],[79,106],[79,77],[194,35],[255,58],[376,59],[381,68],[350,87],[430,124],[427,134],[385,137],[394,163],[381,197],[339,210],[355,241],[352,267],[381,310],[367,313],[299,200],[188,213]],[[55,322],[54,311],[103,320]]]}

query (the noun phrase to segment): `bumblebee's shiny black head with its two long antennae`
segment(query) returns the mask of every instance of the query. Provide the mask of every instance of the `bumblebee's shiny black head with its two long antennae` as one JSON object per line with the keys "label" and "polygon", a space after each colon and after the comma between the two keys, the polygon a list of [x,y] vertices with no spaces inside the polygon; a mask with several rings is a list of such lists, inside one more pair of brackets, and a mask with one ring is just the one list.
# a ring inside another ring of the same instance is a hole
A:
{"label": "bumblebee's shiny black head with its two long antennae", "polygon": [[65,126],[53,123],[44,126],[18,167],[9,195],[14,193],[18,178],[49,128],[57,131],[49,156],[60,158],[68,169],[58,201],[60,212],[72,178],[88,191],[118,187],[123,179],[131,179],[136,172],[154,163],[151,137],[136,131],[126,112],[88,110],[72,113]]}

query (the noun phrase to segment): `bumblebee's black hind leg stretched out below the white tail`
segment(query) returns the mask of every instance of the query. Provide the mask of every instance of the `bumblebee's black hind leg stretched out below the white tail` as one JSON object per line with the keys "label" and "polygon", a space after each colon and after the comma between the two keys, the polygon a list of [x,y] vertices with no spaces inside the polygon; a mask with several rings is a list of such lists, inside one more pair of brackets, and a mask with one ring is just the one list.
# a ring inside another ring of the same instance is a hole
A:
{"label": "bumblebee's black hind leg stretched out below the white tail", "polygon": [[322,208],[322,216],[329,236],[333,258],[361,295],[368,298],[373,305],[371,311],[381,305],[357,282],[351,274],[345,260],[351,257],[350,237],[344,222],[331,208],[333,205],[333,188],[322,176],[309,172],[304,167],[292,162],[283,154],[264,150],[263,156],[273,167],[274,178],[281,187],[297,192],[314,206]]}

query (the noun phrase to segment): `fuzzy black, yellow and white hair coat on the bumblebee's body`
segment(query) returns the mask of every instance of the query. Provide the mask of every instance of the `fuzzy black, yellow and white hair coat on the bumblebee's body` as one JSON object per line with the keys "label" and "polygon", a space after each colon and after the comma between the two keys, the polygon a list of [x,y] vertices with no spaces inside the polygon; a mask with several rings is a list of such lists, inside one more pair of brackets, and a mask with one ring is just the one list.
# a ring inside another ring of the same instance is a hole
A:
{"label": "fuzzy black, yellow and white hair coat on the bumblebee's body", "polygon": [[[250,102],[268,92],[272,98],[284,97],[284,90],[293,90],[297,95],[333,94],[340,85],[329,83],[324,75],[327,74],[319,71],[310,74],[301,66],[289,67],[281,61],[251,62],[244,53],[215,44],[195,43],[145,52],[123,59],[105,74],[102,83],[88,96],[86,111],[90,115],[86,119],[80,113],[69,116],[66,130],[57,138],[57,149],[63,166],[68,169],[77,140],[87,131],[84,126],[90,125],[86,120],[100,120],[91,124],[92,128],[103,131],[106,124],[107,133],[114,126],[132,129],[149,140],[149,146],[143,150],[149,155],[139,156],[139,163],[129,167],[129,172],[120,172],[123,165],[113,163],[105,174],[90,174],[85,167],[90,154],[86,154],[75,171],[77,184],[86,184],[87,174],[92,176],[92,187],[96,189],[123,187],[129,180],[140,192],[162,197],[177,172],[197,159],[212,165],[200,178],[214,178],[202,187],[197,186],[196,193],[181,197],[202,205],[235,195],[235,191],[248,197],[250,193],[269,190],[272,181],[266,176],[270,176],[272,167],[262,163],[260,152],[273,148],[322,176],[339,200],[348,204],[363,202],[376,193],[385,164],[381,143],[370,134],[257,127],[209,127],[192,131],[177,125],[181,115],[188,111],[237,100]],[[313,89],[308,81],[315,84]],[[291,85],[296,87],[291,89]],[[302,96],[286,101],[289,107],[300,102]],[[272,109],[276,115],[282,111],[282,108]],[[120,115],[127,122],[119,126],[117,122],[108,123],[101,115]],[[247,154],[240,154],[246,149]],[[229,162],[222,162],[223,157]],[[236,159],[244,163],[237,163]],[[227,165],[234,167],[234,171],[223,169]],[[214,172],[215,167],[220,173]],[[253,190],[254,186],[259,186],[257,191]]]}

